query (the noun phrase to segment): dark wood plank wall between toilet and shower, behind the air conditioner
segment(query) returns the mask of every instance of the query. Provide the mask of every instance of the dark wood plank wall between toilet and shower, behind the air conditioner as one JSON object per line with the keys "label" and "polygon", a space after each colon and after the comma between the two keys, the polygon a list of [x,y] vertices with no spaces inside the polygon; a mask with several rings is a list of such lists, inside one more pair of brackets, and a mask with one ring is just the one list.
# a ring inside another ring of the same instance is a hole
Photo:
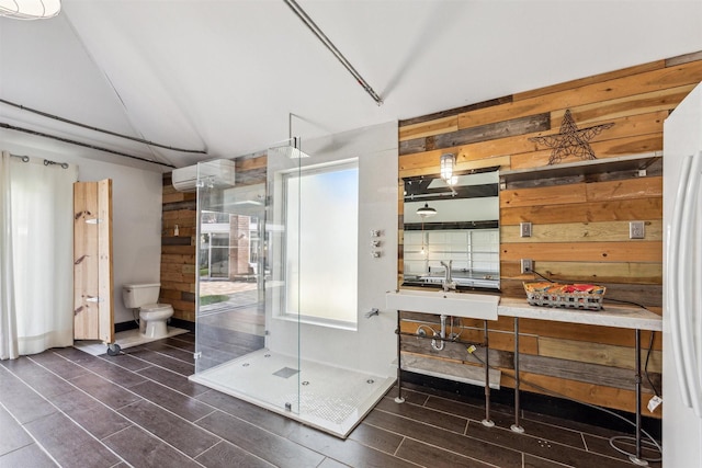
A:
{"label": "dark wood plank wall between toilet and shower, behind the air conditioner", "polygon": [[[236,160],[236,184],[265,181],[265,156]],[[178,192],[171,173],[163,174],[161,220],[161,293],[160,301],[173,306],[173,317],[195,321],[195,248],[197,232],[197,196],[195,192]],[[176,226],[178,225],[178,236]]]}

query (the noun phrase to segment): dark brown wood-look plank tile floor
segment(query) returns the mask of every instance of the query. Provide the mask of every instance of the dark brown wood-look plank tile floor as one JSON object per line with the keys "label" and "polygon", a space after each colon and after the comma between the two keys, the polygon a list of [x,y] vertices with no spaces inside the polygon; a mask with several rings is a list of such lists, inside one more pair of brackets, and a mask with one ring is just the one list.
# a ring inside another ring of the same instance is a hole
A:
{"label": "dark brown wood-look plank tile floor", "polygon": [[[0,467],[632,467],[602,427],[396,389],[342,441],[193,384],[194,334],[0,365]],[[649,457],[654,454],[647,454]],[[650,464],[659,467],[659,464]]]}

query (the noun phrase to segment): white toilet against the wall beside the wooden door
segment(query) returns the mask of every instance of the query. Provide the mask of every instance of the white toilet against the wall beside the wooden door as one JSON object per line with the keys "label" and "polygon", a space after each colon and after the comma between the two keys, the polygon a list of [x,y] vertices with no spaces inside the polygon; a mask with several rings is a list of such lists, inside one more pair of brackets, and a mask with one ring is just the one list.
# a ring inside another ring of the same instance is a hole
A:
{"label": "white toilet against the wall beside the wooden door", "polygon": [[147,338],[168,335],[166,321],[173,315],[173,306],[158,304],[159,283],[125,284],[122,286],[122,299],[129,309],[139,309],[139,329]]}

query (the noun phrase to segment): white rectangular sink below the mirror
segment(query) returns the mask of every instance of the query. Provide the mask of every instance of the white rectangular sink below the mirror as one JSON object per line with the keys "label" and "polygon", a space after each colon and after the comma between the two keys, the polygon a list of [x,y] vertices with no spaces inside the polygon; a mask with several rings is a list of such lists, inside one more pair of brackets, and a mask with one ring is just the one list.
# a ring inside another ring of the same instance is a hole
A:
{"label": "white rectangular sink below the mirror", "polygon": [[438,313],[467,319],[497,320],[500,298],[487,294],[400,289],[385,294],[388,309]]}

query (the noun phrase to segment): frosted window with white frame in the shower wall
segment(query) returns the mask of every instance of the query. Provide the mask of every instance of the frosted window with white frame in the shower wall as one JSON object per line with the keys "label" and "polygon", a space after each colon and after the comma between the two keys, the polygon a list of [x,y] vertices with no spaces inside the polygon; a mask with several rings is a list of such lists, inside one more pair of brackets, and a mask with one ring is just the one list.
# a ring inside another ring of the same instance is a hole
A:
{"label": "frosted window with white frame in the shower wall", "polygon": [[285,311],[355,328],[359,163],[303,168],[285,178]]}

